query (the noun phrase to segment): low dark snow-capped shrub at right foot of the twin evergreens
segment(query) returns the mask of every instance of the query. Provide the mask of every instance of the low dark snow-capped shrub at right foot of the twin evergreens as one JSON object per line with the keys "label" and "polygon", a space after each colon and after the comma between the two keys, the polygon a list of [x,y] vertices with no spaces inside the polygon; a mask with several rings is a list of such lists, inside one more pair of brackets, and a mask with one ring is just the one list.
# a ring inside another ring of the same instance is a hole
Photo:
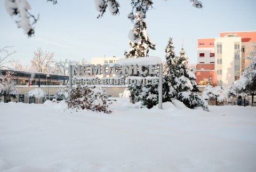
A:
{"label": "low dark snow-capped shrub at right foot of the twin evergreens", "polygon": [[186,107],[190,109],[202,107],[203,110],[209,111],[208,103],[197,94],[190,92],[180,92],[177,94],[177,99],[183,102],[186,105]]}

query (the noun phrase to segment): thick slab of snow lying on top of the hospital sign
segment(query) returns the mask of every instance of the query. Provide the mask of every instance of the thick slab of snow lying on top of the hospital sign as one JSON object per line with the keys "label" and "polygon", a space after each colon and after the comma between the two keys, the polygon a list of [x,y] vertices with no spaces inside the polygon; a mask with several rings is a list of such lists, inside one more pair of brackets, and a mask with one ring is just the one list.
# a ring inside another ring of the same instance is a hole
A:
{"label": "thick slab of snow lying on top of the hospital sign", "polygon": [[116,64],[123,65],[156,65],[161,64],[162,59],[157,56],[148,56],[137,59],[119,59]]}

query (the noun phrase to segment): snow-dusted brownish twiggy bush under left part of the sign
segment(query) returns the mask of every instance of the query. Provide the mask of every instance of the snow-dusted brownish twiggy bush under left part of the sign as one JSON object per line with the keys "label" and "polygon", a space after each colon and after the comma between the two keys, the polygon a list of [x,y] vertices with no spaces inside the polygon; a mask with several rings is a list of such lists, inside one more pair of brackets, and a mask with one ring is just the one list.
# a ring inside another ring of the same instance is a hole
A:
{"label": "snow-dusted brownish twiggy bush under left part of the sign", "polygon": [[78,110],[92,110],[96,112],[110,113],[107,102],[108,95],[101,87],[77,84],[70,91],[70,98],[66,100],[68,108]]}

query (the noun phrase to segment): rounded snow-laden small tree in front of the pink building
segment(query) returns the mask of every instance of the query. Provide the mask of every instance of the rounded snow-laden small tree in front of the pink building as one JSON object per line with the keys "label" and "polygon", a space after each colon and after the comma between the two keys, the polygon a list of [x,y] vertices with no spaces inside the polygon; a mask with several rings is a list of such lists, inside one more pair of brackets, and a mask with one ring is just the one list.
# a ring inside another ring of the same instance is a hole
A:
{"label": "rounded snow-laden small tree in front of the pink building", "polygon": [[203,99],[215,100],[216,105],[218,103],[223,104],[227,101],[227,90],[221,86],[213,87],[211,85],[206,85],[202,97]]}

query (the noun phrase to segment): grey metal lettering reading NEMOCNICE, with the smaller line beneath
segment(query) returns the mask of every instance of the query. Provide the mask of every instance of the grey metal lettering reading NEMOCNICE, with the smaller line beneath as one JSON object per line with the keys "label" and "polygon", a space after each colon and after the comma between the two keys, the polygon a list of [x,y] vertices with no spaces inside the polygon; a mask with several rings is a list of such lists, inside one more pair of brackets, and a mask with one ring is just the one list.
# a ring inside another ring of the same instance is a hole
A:
{"label": "grey metal lettering reading NEMOCNICE, with the smaller line beneath", "polygon": [[104,65],[94,65],[94,64],[85,64],[85,65],[72,65],[71,73],[72,76],[79,76],[72,78],[72,84],[84,83],[84,84],[93,84],[93,85],[156,85],[158,81],[158,77],[87,77],[87,76],[95,76],[95,75],[109,75],[113,73],[115,75],[156,75],[158,65],[124,65],[114,64],[113,67],[109,64]]}

